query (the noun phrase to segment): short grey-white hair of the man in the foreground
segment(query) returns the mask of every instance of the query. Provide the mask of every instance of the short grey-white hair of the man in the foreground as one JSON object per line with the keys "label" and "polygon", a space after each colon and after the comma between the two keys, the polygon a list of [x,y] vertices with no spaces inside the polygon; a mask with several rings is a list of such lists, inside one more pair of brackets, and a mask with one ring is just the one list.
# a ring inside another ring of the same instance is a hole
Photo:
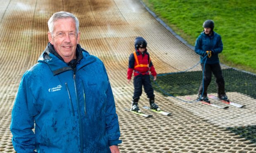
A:
{"label": "short grey-white hair of the man in the foreground", "polygon": [[48,28],[49,28],[50,33],[52,34],[52,32],[53,32],[53,26],[54,26],[53,23],[55,21],[57,21],[59,19],[66,19],[66,18],[72,18],[76,22],[76,34],[78,34],[79,21],[78,21],[77,17],[69,12],[64,12],[64,11],[56,12],[55,14],[52,15],[52,17],[50,17],[50,19],[48,21]]}

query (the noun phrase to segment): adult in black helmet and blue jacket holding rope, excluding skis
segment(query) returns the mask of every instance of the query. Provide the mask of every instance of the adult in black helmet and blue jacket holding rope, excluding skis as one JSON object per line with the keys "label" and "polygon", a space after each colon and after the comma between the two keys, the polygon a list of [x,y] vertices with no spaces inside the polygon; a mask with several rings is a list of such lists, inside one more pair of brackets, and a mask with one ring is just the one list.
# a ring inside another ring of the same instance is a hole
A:
{"label": "adult in black helmet and blue jacket holding rope, excluding skis", "polygon": [[[194,51],[200,55],[201,68],[204,71],[204,87],[203,83],[201,83],[198,91],[198,100],[210,103],[207,97],[207,88],[211,83],[211,73],[213,72],[218,86],[218,98],[220,100],[225,100],[229,102],[228,97],[225,93],[225,81],[222,76],[222,71],[218,58],[218,54],[221,53],[223,50],[221,37],[218,33],[213,31],[214,22],[212,20],[204,21],[203,28],[204,31],[199,35],[199,37],[197,37],[194,49]],[[207,59],[204,58],[206,55]]]}

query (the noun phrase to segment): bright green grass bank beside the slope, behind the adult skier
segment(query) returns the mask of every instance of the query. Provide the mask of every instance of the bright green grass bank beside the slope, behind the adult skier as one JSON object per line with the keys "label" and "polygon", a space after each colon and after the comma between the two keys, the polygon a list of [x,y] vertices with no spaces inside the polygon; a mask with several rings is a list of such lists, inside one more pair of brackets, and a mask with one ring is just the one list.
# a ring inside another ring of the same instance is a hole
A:
{"label": "bright green grass bank beside the slope, behind the adult skier", "polygon": [[142,0],[178,35],[194,46],[207,19],[222,36],[221,63],[256,73],[255,0]]}

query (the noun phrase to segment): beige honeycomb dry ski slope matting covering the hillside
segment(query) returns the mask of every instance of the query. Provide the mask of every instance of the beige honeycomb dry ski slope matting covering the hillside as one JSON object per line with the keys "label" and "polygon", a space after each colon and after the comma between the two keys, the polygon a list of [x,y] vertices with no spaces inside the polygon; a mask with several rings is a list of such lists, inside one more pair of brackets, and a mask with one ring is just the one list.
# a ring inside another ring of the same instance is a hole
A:
{"label": "beige honeycomb dry ski slope matting covering the hillside", "polygon": [[140,107],[152,114],[152,118],[123,109],[130,107],[133,95],[133,84],[127,83],[126,70],[136,36],[147,40],[147,49],[159,74],[186,70],[199,59],[159,24],[139,0],[1,0],[0,152],[15,152],[9,125],[19,81],[45,49],[47,20],[62,10],[78,17],[81,46],[103,60],[107,68],[119,116],[122,153],[256,152],[255,143],[227,130],[227,127],[255,127],[256,100],[247,95],[228,93],[230,98],[239,97],[240,103],[247,107],[230,106],[224,110],[185,103],[155,92],[157,104],[172,112],[171,116],[164,116],[142,109],[148,105],[143,93]]}

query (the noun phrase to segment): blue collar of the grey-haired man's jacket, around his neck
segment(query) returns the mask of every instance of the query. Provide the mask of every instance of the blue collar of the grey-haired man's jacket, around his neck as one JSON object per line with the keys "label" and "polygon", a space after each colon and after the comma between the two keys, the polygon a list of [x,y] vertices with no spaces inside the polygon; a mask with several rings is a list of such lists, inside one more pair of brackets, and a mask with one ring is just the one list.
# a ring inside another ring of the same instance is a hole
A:
{"label": "blue collar of the grey-haired man's jacket, around his neck", "polygon": [[[52,50],[53,49],[53,50]],[[69,63],[65,63],[61,56],[57,54],[54,50],[52,44],[48,43],[45,50],[41,54],[38,59],[39,62],[47,63],[47,65],[52,70],[53,75],[60,74],[65,71],[73,70],[77,72],[81,67],[89,65],[95,62],[95,56],[91,56],[87,51],[81,48],[81,46],[77,45],[77,55],[78,59],[75,65],[75,68],[72,68]]]}

